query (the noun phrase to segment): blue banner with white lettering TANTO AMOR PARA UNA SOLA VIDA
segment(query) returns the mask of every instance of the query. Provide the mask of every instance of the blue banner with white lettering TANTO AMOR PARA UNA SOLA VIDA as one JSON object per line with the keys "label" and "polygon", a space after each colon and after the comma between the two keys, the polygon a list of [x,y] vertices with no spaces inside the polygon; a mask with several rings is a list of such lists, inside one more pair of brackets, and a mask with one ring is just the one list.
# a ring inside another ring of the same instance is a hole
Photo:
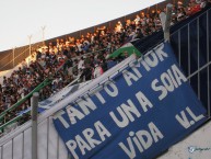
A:
{"label": "blue banner with white lettering TANTO AMOR PARA UNA SOLA VIDA", "polygon": [[74,159],[150,159],[206,121],[169,44],[54,115]]}

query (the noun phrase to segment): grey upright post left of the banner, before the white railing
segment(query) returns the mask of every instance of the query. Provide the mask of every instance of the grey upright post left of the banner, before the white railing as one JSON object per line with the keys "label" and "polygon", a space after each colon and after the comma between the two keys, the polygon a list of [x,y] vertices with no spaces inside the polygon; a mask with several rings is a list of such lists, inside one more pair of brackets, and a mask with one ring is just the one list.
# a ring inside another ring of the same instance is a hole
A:
{"label": "grey upright post left of the banner, before the white railing", "polygon": [[37,92],[33,93],[31,99],[31,115],[32,115],[32,159],[37,159],[37,107],[38,107]]}

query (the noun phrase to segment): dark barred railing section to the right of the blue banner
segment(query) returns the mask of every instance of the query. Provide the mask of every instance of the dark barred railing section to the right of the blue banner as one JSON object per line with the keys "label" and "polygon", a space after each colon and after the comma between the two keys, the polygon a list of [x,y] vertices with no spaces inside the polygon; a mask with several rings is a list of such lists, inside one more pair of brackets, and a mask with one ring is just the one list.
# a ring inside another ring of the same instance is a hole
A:
{"label": "dark barred railing section to the right of the blue banner", "polygon": [[184,72],[197,93],[198,99],[208,110],[209,118],[211,117],[210,14],[211,9],[203,12],[171,35],[171,43],[176,53],[179,66],[184,69]]}

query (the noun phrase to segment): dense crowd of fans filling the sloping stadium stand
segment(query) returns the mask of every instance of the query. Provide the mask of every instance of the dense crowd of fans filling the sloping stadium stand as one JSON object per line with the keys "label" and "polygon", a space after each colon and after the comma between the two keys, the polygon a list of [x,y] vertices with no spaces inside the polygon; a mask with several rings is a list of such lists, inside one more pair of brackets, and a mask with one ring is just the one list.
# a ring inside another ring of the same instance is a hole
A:
{"label": "dense crowd of fans filling the sloping stadium stand", "polygon": [[[207,2],[190,0],[187,7],[178,2],[173,7],[172,25],[200,11]],[[0,113],[22,100],[46,78],[54,80],[40,90],[40,101],[58,92],[75,78],[80,78],[80,81],[97,78],[122,60],[108,58],[122,44],[134,38],[144,38],[162,29],[160,12],[161,10],[141,12],[134,20],[124,23],[119,21],[114,30],[103,26],[81,38],[58,38],[55,43],[34,50],[28,63],[23,60],[22,66],[14,70],[11,77],[3,77],[3,82],[0,83]],[[8,113],[1,124],[27,107],[28,100]]]}

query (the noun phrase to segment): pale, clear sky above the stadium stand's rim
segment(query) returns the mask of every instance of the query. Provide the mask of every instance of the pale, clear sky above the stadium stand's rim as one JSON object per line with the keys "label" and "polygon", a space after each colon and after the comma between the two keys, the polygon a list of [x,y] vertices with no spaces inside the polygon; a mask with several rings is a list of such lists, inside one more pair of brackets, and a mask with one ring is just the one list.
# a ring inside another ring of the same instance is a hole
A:
{"label": "pale, clear sky above the stadium stand's rim", "polygon": [[0,52],[127,15],[164,0],[1,0]]}

